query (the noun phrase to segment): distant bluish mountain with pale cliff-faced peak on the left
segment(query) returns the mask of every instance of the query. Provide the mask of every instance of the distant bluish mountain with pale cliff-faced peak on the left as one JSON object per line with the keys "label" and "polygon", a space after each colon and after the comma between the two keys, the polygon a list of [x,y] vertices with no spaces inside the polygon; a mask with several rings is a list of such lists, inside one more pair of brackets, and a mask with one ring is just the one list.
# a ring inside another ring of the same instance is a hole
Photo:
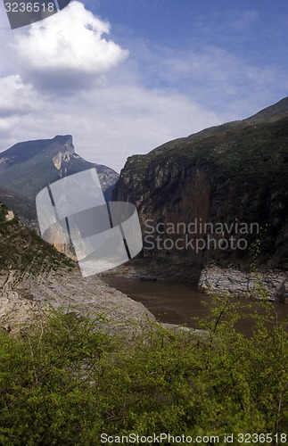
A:
{"label": "distant bluish mountain with pale cliff-faced peak on the left", "polygon": [[101,164],[88,162],[75,153],[72,136],[55,136],[21,142],[0,153],[0,200],[16,211],[23,221],[36,220],[37,193],[57,179],[95,168],[104,195],[119,175]]}

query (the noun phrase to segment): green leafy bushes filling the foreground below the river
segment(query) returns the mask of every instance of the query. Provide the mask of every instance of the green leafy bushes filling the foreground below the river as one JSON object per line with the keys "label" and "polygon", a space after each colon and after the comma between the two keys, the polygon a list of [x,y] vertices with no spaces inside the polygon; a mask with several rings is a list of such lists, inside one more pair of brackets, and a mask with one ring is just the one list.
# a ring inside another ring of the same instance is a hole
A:
{"label": "green leafy bushes filling the foreground below the river", "polygon": [[127,340],[59,312],[21,338],[1,332],[0,444],[92,445],[103,432],[285,432],[287,326],[263,305],[251,337],[235,329],[229,298],[215,298],[198,334],[150,326]]}

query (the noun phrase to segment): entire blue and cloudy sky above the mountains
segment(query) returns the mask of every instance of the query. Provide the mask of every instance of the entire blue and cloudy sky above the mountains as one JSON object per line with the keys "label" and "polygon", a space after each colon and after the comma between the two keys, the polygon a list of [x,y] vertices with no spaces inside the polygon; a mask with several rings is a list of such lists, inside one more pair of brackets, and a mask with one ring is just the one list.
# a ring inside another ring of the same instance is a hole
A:
{"label": "entire blue and cloudy sky above the mountains", "polygon": [[13,30],[0,2],[0,40],[0,152],[72,135],[119,172],[288,95],[286,0],[73,0]]}

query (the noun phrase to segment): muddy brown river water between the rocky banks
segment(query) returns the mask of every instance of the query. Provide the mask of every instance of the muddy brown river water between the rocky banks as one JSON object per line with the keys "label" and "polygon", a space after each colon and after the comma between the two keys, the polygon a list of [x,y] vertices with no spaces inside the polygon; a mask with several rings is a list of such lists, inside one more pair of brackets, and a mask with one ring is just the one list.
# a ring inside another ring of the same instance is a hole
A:
{"label": "muddy brown river water between the rocky banks", "polygon": [[[212,303],[210,296],[199,293],[195,285],[179,282],[158,280],[141,281],[123,277],[104,277],[106,284],[125,293],[134,301],[144,304],[147,310],[160,321],[169,324],[185,324],[193,326],[192,318],[203,317],[209,313],[208,307],[202,301]],[[243,301],[235,299],[235,301]],[[273,303],[279,319],[288,317],[288,305]],[[264,310],[257,306],[259,313]],[[237,326],[243,333],[251,332],[251,319],[244,318]]]}

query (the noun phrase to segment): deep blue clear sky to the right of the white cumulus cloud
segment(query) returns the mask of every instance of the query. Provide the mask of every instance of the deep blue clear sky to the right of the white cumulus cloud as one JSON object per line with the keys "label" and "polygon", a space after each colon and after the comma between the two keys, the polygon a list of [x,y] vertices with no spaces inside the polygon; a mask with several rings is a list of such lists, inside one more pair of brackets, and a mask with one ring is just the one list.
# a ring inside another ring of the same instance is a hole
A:
{"label": "deep blue clear sky to the right of the white cumulus cloud", "polygon": [[[112,36],[144,67],[144,82],[150,87],[174,87],[224,113],[229,110],[224,100],[248,99],[239,117],[257,109],[251,98],[254,92],[259,106],[286,95],[287,83],[278,81],[284,81],[288,68],[285,0],[106,0],[86,4],[93,4],[95,13],[111,21]],[[151,59],[142,54],[142,45]],[[262,92],[262,86],[253,82],[258,74],[261,84],[265,83]],[[222,90],[222,100],[216,85]]]}

